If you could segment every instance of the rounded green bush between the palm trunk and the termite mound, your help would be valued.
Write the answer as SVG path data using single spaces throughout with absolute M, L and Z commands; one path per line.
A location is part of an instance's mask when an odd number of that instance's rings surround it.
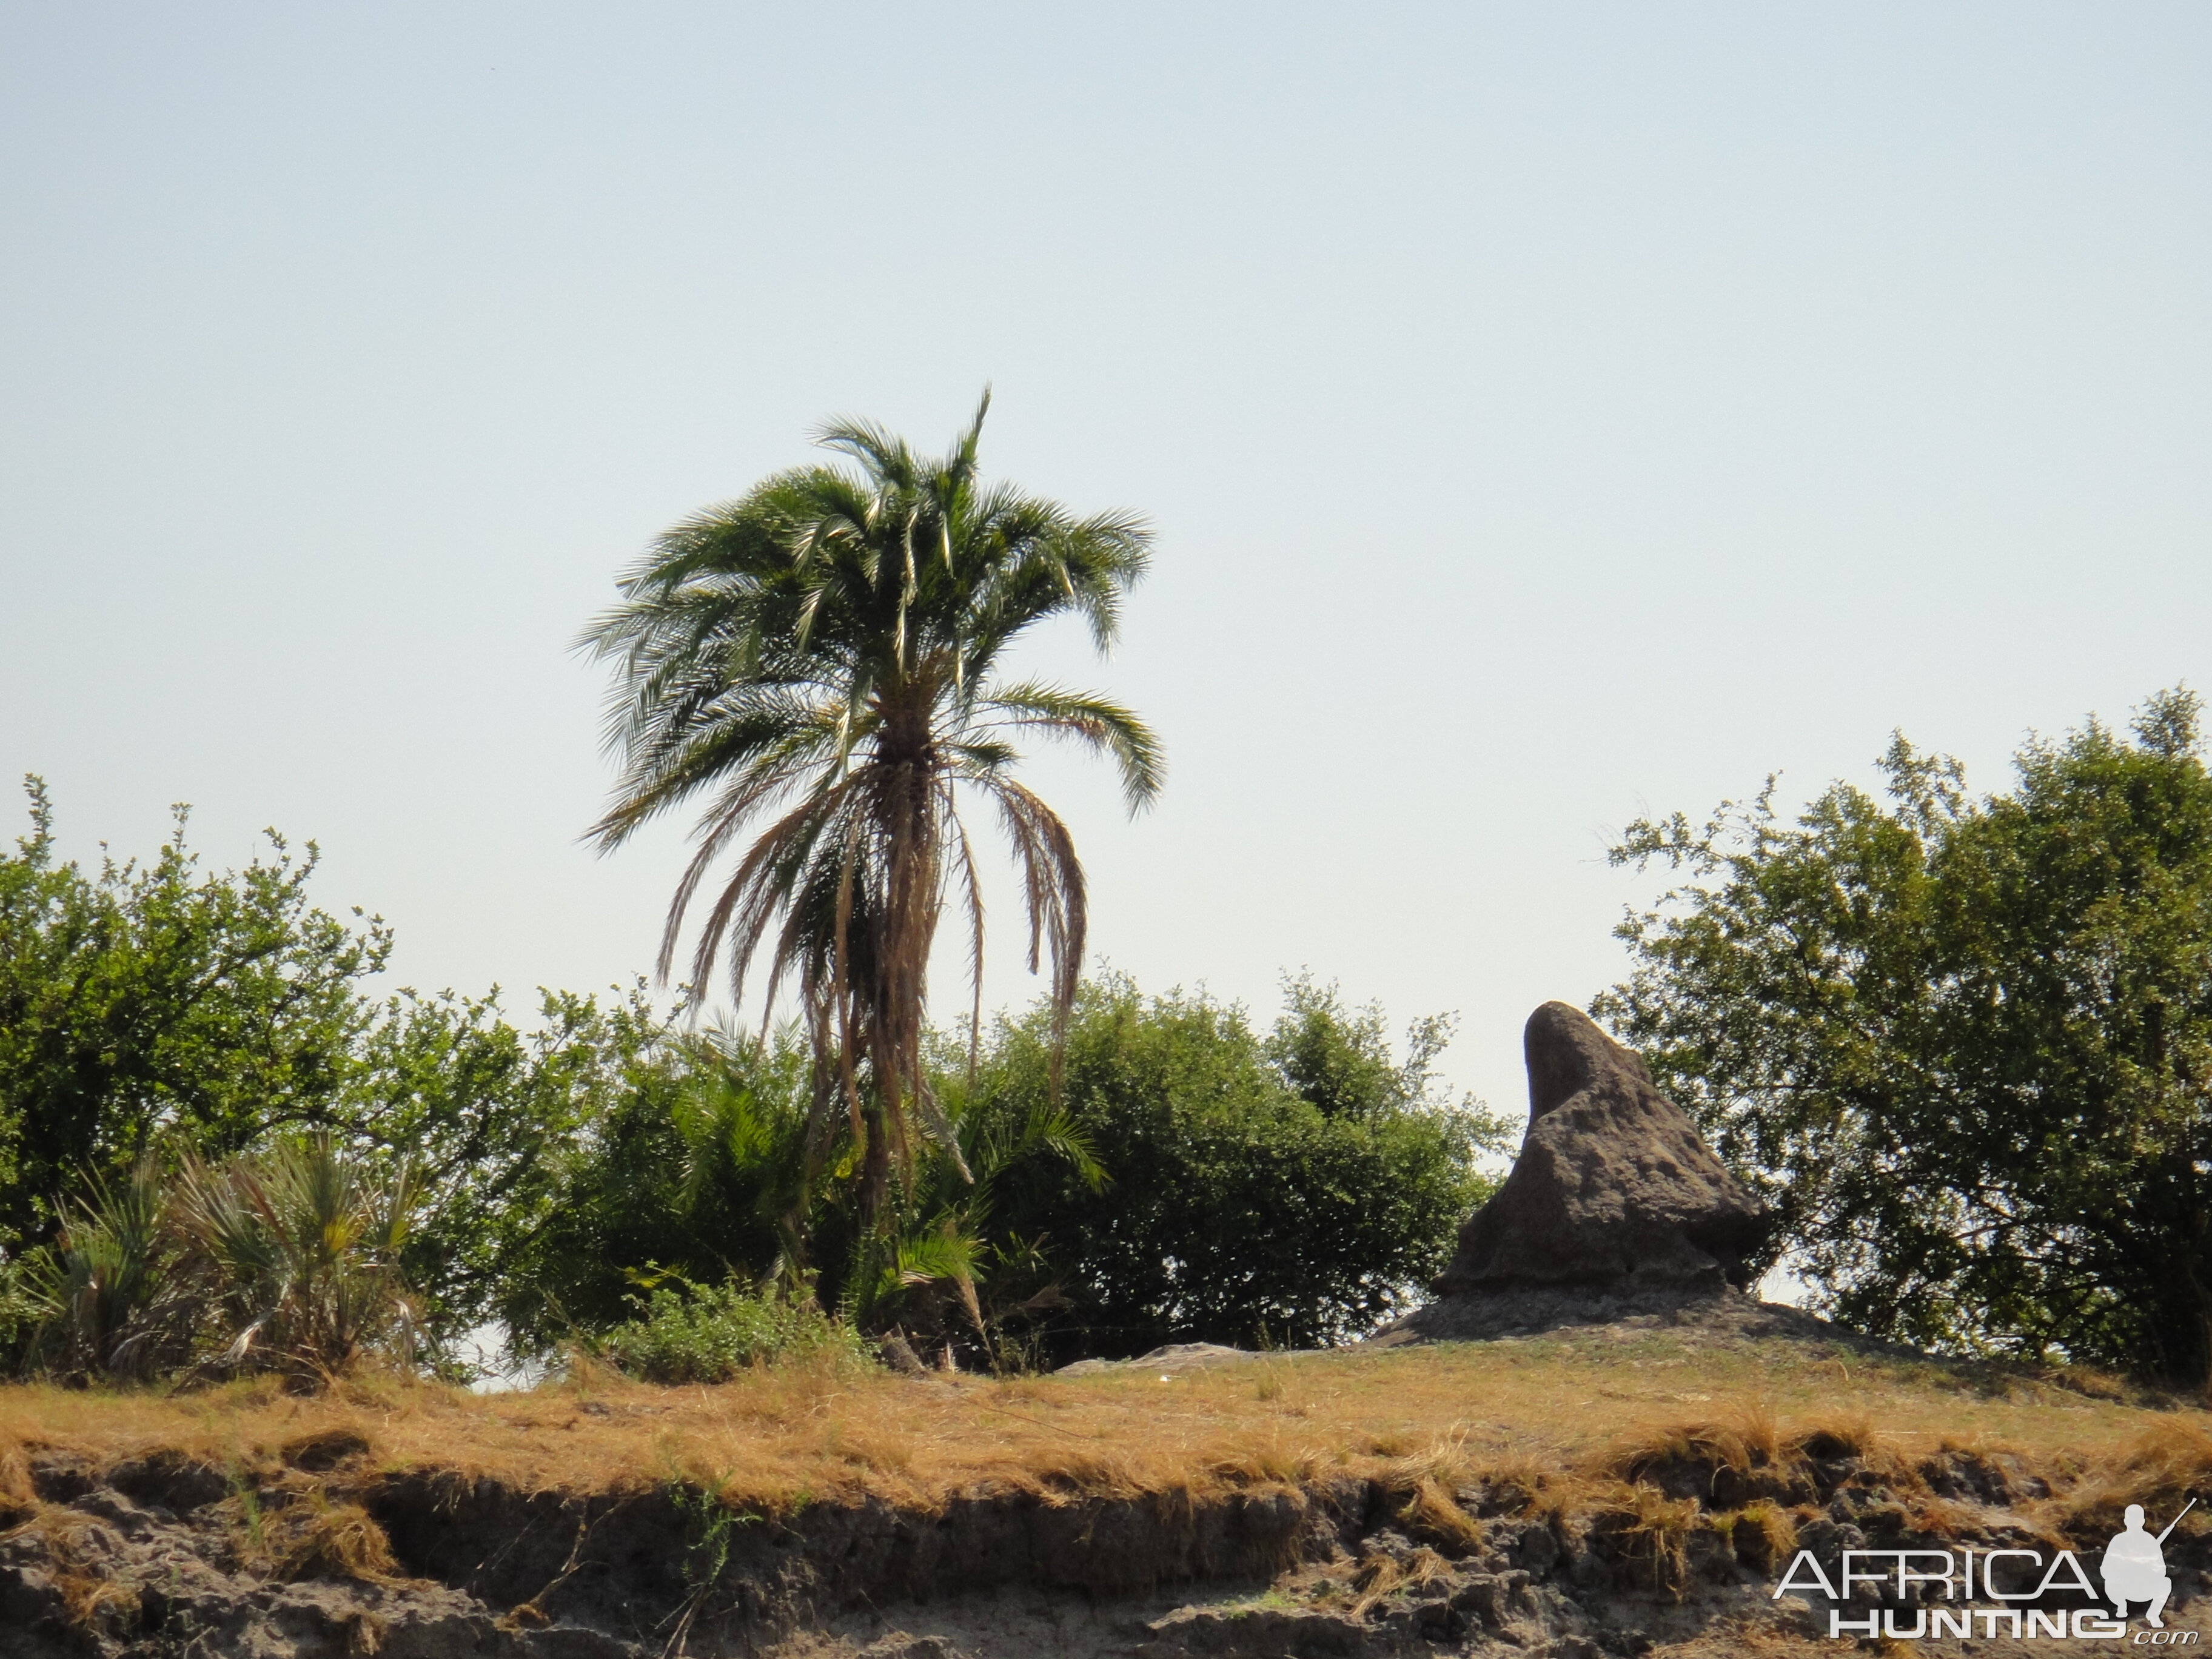
M 1383 1013 L 1296 978 L 1267 1035 L 1241 1006 L 1088 982 L 1068 1022 L 1064 1110 L 1108 1183 L 1015 1170 L 993 1225 L 1055 1265 L 1066 1305 L 1044 1354 L 1159 1343 L 1327 1347 L 1416 1307 L 1460 1221 L 1495 1190 L 1478 1168 L 1509 1126 L 1449 1095 L 1449 1018 L 1416 1020 L 1405 1055 Z M 1000 1026 L 971 1113 L 1033 1110 L 1053 1091 L 1048 1011 Z

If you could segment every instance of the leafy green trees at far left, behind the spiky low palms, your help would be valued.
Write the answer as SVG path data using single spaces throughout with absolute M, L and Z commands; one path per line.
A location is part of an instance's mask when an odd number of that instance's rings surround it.
M 55 856 L 44 785 L 29 787 L 31 834 L 0 856 L 0 1356 L 38 1323 L 9 1252 L 69 1225 L 73 1305 L 97 1323 L 150 1283 L 124 1197 L 290 1133 L 336 1135 L 385 1175 L 414 1161 L 398 1270 L 436 1352 L 491 1316 L 586 1126 L 677 1064 L 641 989 L 544 993 L 533 1031 L 498 993 L 372 998 L 392 931 L 310 900 L 312 845 L 294 856 L 272 834 L 270 858 L 208 874 L 179 810 L 153 863 L 86 872 Z

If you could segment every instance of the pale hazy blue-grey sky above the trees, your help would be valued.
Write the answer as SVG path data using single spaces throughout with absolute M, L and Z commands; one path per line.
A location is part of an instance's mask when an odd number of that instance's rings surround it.
M 577 847 L 577 626 L 989 380 L 1159 531 L 1031 653 L 1168 741 L 1135 823 L 1037 768 L 1095 956 L 1458 1009 L 1517 1110 L 1628 818 L 2212 686 L 2208 88 L 2203 4 L 7 0 L 0 774 L 319 838 L 407 982 L 628 978 L 681 834 Z

